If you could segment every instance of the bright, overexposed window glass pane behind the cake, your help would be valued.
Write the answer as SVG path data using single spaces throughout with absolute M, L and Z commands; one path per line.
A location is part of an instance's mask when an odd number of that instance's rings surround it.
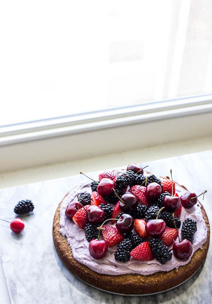
M 212 91 L 212 2 L 2 1 L 0 125 Z

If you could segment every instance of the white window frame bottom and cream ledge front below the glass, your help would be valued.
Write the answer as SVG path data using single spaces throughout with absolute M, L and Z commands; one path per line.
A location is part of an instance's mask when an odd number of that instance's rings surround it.
M 211 136 L 211 101 L 195 96 L 0 128 L 0 171 Z

